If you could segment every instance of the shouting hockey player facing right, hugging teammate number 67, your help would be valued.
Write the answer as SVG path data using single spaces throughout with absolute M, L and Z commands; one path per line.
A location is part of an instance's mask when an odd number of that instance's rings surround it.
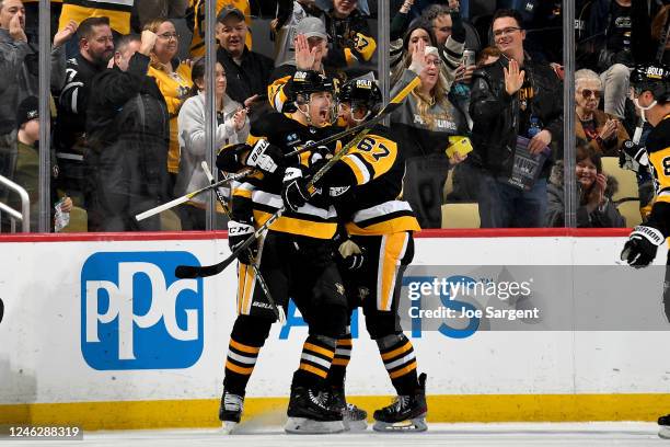
M 307 192 L 296 190 L 296 185 L 308 172 L 310 154 L 284 158 L 284 153 L 334 131 L 330 124 L 335 116 L 335 98 L 332 83 L 315 72 L 296 72 L 292 84 L 293 113 L 270 114 L 257 121 L 252 126 L 252 135 L 257 137 L 253 147 L 228 148 L 217 159 L 217 167 L 223 171 L 243 167 L 259 170 L 233 185 L 231 250 L 278 209 L 286 208 L 253 247 L 255 260 L 240 257 L 239 317 L 231 333 L 219 416 L 229 428 L 240 421 L 246 383 L 274 322 L 263 290 L 255 287 L 254 272 L 247 268 L 255 261 L 275 301 L 286 306 L 290 296 L 310 331 L 293 374 L 286 431 L 335 433 L 344 429 L 342 414 L 325 404 L 322 391 L 347 318 L 331 241 L 337 227 L 336 214 L 317 198 L 299 203 Z

